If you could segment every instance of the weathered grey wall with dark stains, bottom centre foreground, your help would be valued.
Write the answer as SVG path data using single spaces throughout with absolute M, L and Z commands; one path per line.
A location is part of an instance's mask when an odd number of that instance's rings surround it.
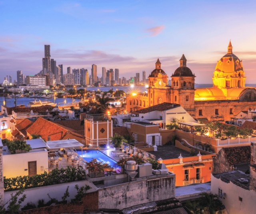
M 175 175 L 150 177 L 99 190 L 99 209 L 122 210 L 175 197 Z

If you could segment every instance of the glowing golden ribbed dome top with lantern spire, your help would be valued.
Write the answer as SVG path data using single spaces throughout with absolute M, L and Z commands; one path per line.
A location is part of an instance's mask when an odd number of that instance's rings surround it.
M 238 57 L 232 53 L 232 49 L 233 47 L 230 41 L 228 45 L 228 53 L 218 61 L 215 68 L 216 72 L 230 73 L 231 76 L 236 76 L 236 74 L 239 74 L 240 72 L 243 73 L 244 68 L 242 61 L 240 61 L 240 59 L 238 59 Z

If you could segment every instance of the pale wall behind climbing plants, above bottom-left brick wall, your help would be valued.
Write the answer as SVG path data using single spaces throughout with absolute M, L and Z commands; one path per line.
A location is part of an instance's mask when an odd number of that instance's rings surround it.
M 50 195 L 51 198 L 56 198 L 58 201 L 61 201 L 61 197 L 64 196 L 64 192 L 66 191 L 67 187 L 68 192 L 70 196 L 67 198 L 67 200 L 73 199 L 74 196 L 77 194 L 77 191 L 75 189 L 75 186 L 78 185 L 79 187 L 89 185 L 92 187 L 90 190 L 87 191 L 89 192 L 94 192 L 96 191 L 96 187 L 92 184 L 89 183 L 88 181 L 75 181 L 75 182 L 70 182 L 70 183 L 63 183 L 63 184 L 56 184 L 56 185 L 50 185 L 50 186 L 45 186 L 45 187 L 36 187 L 36 188 L 30 188 L 26 189 L 24 194 L 26 194 L 26 199 L 24 202 L 22 202 L 22 207 L 26 205 L 28 202 L 32 202 L 34 204 L 38 204 L 38 200 L 44 199 L 44 202 L 48 202 L 50 198 L 48 197 L 47 194 Z M 15 194 L 18 192 L 16 191 L 10 191 L 10 192 L 4 192 L 4 203 L 6 203 L 8 200 L 10 200 L 11 194 Z M 5 208 L 7 208 L 8 204 L 6 204 Z

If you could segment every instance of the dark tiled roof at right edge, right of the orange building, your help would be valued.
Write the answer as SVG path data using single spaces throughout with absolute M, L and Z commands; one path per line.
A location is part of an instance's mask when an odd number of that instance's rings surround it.
M 222 147 L 224 154 L 226 155 L 230 164 L 237 163 L 250 163 L 251 161 L 251 147 L 235 146 L 235 147 Z

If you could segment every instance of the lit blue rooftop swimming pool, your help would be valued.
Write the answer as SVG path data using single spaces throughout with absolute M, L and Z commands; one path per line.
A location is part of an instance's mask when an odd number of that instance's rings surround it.
M 110 166 L 114 166 L 117 163 L 112 158 L 108 157 L 108 155 L 105 155 L 98 150 L 83 150 L 83 156 L 82 150 L 77 150 L 77 154 L 83 157 L 83 159 L 87 162 L 91 161 L 93 158 L 96 158 L 97 161 L 102 161 L 102 163 L 107 163 Z

